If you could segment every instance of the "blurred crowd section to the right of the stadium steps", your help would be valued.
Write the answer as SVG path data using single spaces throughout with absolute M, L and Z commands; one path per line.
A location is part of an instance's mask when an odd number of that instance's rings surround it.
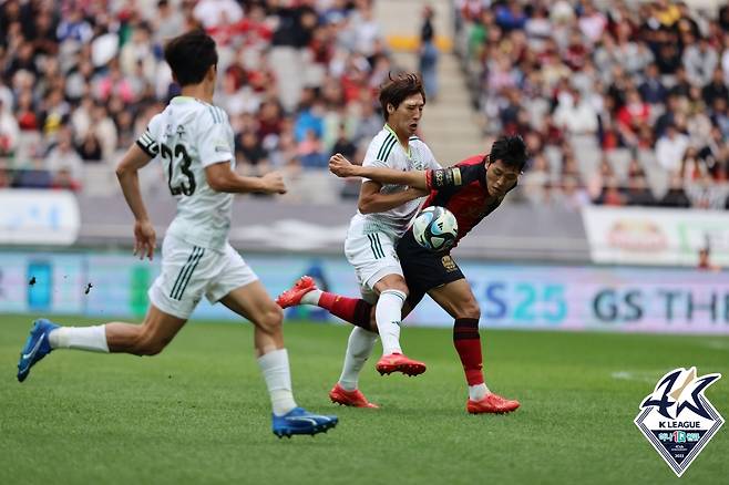
M 729 208 L 729 7 L 715 4 L 455 0 L 484 133 L 521 133 L 533 154 L 520 194 Z

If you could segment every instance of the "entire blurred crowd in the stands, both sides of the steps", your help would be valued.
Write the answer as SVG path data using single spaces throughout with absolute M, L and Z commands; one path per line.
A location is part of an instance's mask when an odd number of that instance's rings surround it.
M 516 200 L 729 207 L 727 6 L 455 0 L 453 11 L 484 147 L 516 132 L 533 154 Z M 242 173 L 324 173 L 335 152 L 361 162 L 382 126 L 378 86 L 398 70 L 373 0 L 6 0 L 0 187 L 103 193 L 176 94 L 164 40 L 198 27 L 218 43 L 215 102 Z M 421 66 L 434 62 L 432 37 L 427 20 Z

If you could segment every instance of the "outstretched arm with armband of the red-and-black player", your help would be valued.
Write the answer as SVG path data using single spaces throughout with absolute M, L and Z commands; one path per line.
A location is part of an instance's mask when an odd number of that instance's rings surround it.
M 364 177 L 379 184 L 408 185 L 419 189 L 441 189 L 469 185 L 481 174 L 463 174 L 459 167 L 401 172 L 392 168 L 355 165 L 343 155 L 329 158 L 329 171 L 338 177 Z

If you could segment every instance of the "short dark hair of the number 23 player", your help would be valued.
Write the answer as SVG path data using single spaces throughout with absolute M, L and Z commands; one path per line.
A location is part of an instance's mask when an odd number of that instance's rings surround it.
M 165 61 L 181 86 L 199 84 L 211 65 L 217 65 L 215 41 L 203 30 L 189 31 L 167 42 Z

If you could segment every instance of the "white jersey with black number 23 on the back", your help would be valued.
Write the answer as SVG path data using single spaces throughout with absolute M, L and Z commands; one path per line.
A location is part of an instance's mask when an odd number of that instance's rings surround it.
M 148 155 L 160 158 L 170 193 L 177 199 L 168 235 L 204 248 L 225 247 L 233 194 L 213 190 L 205 167 L 226 161 L 235 166 L 233 136 L 223 110 L 176 96 L 136 141 Z

